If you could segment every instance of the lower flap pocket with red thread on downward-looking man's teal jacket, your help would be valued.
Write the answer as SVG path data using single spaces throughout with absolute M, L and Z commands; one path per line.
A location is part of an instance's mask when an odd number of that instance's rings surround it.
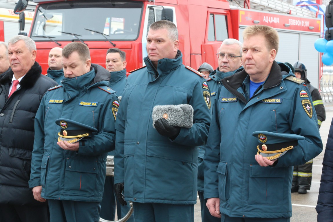
M 65 170 L 64 193 L 93 195 L 97 174 L 97 162 L 68 159 Z

